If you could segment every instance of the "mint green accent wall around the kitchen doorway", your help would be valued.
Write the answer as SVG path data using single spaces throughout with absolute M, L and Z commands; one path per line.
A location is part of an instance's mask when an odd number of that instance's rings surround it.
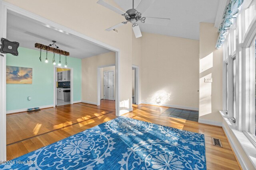
M 46 53 L 42 51 L 42 62 L 39 61 L 40 52 L 37 50 L 18 48 L 18 57 L 8 54 L 7 66 L 19 66 L 33 68 L 32 84 L 6 84 L 6 111 L 53 105 L 53 77 L 54 65 L 53 53 L 48 53 L 48 63 L 45 63 Z M 68 67 L 73 68 L 74 101 L 81 100 L 81 59 L 67 57 Z M 55 56 L 56 63 L 59 55 Z M 65 58 L 62 56 L 62 64 Z M 31 100 L 28 101 L 28 96 Z

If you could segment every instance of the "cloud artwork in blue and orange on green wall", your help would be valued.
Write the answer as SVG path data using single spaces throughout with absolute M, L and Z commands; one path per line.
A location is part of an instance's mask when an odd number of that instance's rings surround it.
M 32 68 L 6 66 L 6 84 L 32 84 Z

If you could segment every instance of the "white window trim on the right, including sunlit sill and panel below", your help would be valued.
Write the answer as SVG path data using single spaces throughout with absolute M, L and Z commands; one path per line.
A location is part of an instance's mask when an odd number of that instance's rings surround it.
M 248 158 L 256 168 L 256 137 L 251 132 L 255 130 L 255 39 L 256 39 L 256 7 L 250 8 L 250 4 L 256 4 L 256 0 L 245 0 L 242 5 L 242 10 L 236 18 L 235 34 L 230 29 L 228 37 L 224 42 L 224 59 L 223 59 L 223 110 L 226 111 L 226 64 L 228 63 L 228 115 L 221 113 L 223 122 L 228 124 L 229 129 L 223 128 L 228 139 L 232 138 L 228 135 L 233 133 Z M 248 18 L 246 18 L 246 16 Z M 247 25 L 246 25 L 247 24 Z M 234 39 L 235 38 L 235 39 Z M 235 43 L 235 51 L 234 49 Z M 234 51 L 234 53 L 232 53 Z M 232 53 L 232 54 L 230 54 Z M 234 124 L 228 118 L 232 117 L 232 76 L 233 62 L 232 57 L 236 57 L 236 123 Z M 231 91 L 231 94 L 230 94 Z M 254 129 L 254 130 L 253 130 Z M 234 148 L 236 155 L 240 157 L 239 152 Z M 240 157 L 241 165 L 246 168 L 246 162 Z

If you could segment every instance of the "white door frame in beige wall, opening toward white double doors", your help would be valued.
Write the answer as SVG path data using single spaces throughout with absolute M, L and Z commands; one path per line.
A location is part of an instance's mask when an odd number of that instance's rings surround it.
M 97 68 L 97 106 L 100 106 L 100 88 L 101 88 L 100 85 L 102 83 L 102 80 L 100 78 L 100 68 L 109 67 L 109 66 L 115 66 L 115 68 L 116 68 L 116 64 L 108 64 L 108 65 L 98 66 L 98 68 Z M 117 71 L 117 69 L 116 69 L 116 71 Z M 117 76 L 118 76 L 118 74 L 116 72 L 116 74 L 115 74 L 115 80 L 116 80 L 115 81 L 115 88 L 116 88 L 116 90 L 115 90 L 115 98 L 114 98 L 114 100 L 116 100 L 116 101 L 117 101 L 116 97 L 117 97 L 117 93 L 118 93 L 116 85 L 118 83 L 120 83 L 120 82 L 117 82 L 117 81 L 120 80 L 119 78 L 117 79 Z M 116 102 L 116 107 L 117 107 L 117 105 L 118 105 L 118 102 Z

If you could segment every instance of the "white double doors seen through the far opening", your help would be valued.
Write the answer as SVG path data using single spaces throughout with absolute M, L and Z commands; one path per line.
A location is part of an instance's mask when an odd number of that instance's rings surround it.
M 104 99 L 114 100 L 114 71 L 104 72 Z

